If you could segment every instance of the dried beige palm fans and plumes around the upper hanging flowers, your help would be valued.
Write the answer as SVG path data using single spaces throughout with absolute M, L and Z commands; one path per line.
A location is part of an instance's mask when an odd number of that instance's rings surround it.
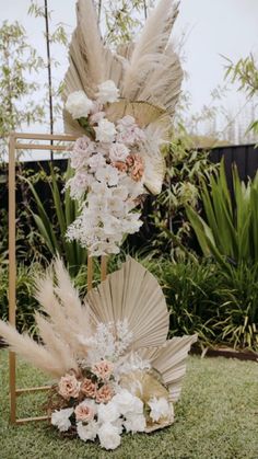
M 92 0 L 79 0 L 78 25 L 64 79 L 64 101 L 79 90 L 94 99 L 97 84 L 113 80 L 121 100 L 105 107 L 109 121 L 133 115 L 140 127 L 148 127 L 154 137 L 159 133 L 159 138 L 166 141 L 183 79 L 178 57 L 169 43 L 177 13 L 177 2 L 160 0 L 139 41 L 113 53 L 101 37 Z M 67 111 L 63 119 L 66 133 L 83 134 L 83 128 Z M 162 153 L 150 146 L 142 156 L 146 167 L 145 187 L 150 193 L 159 194 L 165 174 Z

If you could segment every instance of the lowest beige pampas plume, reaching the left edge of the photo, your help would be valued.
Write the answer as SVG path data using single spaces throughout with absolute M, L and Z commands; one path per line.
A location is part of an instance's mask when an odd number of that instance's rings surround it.
M 17 353 L 43 371 L 60 377 L 69 370 L 69 367 L 63 365 L 51 351 L 37 344 L 28 335 L 21 335 L 12 325 L 3 321 L 0 321 L 0 335 L 9 344 L 11 351 Z

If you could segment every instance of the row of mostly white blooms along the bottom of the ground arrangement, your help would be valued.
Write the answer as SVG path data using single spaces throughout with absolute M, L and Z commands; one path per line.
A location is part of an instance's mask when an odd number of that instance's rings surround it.
M 152 399 L 150 417 L 154 422 L 171 416 L 171 408 L 166 399 Z M 121 433 L 144 432 L 146 420 L 143 413 L 143 402 L 132 395 L 128 390 L 120 389 L 108 403 L 95 403 L 85 399 L 75 410 L 63 409 L 55 411 L 51 415 L 51 424 L 60 432 L 67 432 L 71 427 L 70 417 L 80 412 L 77 417 L 77 432 L 83 441 L 94 441 L 97 437 L 101 446 L 105 449 L 116 449 L 121 443 Z

